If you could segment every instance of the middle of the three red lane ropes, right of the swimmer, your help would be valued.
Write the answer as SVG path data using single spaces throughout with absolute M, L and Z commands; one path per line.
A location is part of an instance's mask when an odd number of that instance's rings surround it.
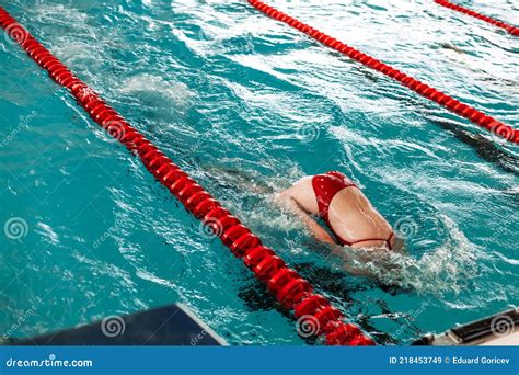
M 267 14 L 268 16 L 277 20 L 285 22 L 286 24 L 303 32 L 304 34 L 311 36 L 312 38 L 316 39 L 318 42 L 321 42 L 322 44 L 328 46 L 330 48 L 333 48 L 350 58 L 354 60 L 357 60 L 365 66 L 374 69 L 377 71 L 380 71 L 381 73 L 391 77 L 395 81 L 399 81 L 403 86 L 407 87 L 408 89 L 419 93 L 422 96 L 427 98 L 445 107 L 448 110 L 457 113 L 460 116 L 463 116 L 470 121 L 472 121 L 474 124 L 480 125 L 481 127 L 495 133 L 501 138 L 505 138 L 511 143 L 519 144 L 519 130 L 514 129 L 511 126 L 506 125 L 497 120 L 495 120 L 492 116 L 488 116 L 484 114 L 483 112 L 477 111 L 476 109 L 464 104 L 460 102 L 459 100 L 449 96 L 445 94 L 441 91 L 436 90 L 435 88 L 431 88 L 422 81 L 414 79 L 413 77 L 410 77 L 402 71 L 390 67 L 389 65 L 371 57 L 368 56 L 364 53 L 361 53 L 358 49 L 355 49 L 354 47 L 348 46 L 345 43 L 342 43 L 337 41 L 336 38 L 326 35 L 319 30 L 315 30 L 311 27 L 310 25 L 302 23 L 301 21 L 285 14 L 277 9 L 267 5 L 266 3 L 260 1 L 260 0 L 247 0 L 251 5 L 256 8 L 257 10 L 262 11 L 263 13 Z

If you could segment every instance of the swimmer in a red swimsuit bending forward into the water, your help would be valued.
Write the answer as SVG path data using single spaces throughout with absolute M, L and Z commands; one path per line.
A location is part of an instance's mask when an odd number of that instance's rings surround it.
M 305 177 L 277 193 L 275 201 L 303 221 L 320 241 L 353 249 L 400 251 L 403 240 L 360 189 L 339 172 Z M 321 217 L 330 232 L 314 217 Z

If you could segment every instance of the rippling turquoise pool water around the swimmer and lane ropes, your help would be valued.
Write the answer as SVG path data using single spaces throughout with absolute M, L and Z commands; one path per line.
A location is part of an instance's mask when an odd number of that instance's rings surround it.
M 492 25 L 431 1 L 269 3 L 519 123 L 519 44 Z M 519 23 L 511 1 L 460 3 Z M 518 304 L 517 147 L 244 1 L 0 4 L 378 342 Z M 232 344 L 307 343 L 241 261 L 3 35 L 0 124 L 4 339 L 182 302 Z M 327 170 L 408 235 L 407 255 L 390 260 L 403 272 L 348 275 L 270 204 L 269 192 Z

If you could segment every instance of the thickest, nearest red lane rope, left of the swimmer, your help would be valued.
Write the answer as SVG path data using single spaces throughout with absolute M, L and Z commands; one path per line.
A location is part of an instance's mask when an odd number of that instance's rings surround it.
M 89 115 L 131 152 L 139 156 L 154 178 L 174 194 L 185 208 L 219 237 L 235 257 L 265 283 L 279 304 L 293 311 L 297 319 L 311 325 L 312 332 L 325 338 L 330 345 L 374 345 L 360 329 L 344 322 L 338 309 L 295 270 L 262 245 L 251 230 L 223 208 L 208 192 L 151 141 L 131 127 L 117 111 L 107 105 L 86 83 L 76 77 L 50 52 L 36 41 L 3 8 L 0 24 L 25 52 L 58 83 L 66 87 Z M 300 320 L 298 320 L 299 322 Z

